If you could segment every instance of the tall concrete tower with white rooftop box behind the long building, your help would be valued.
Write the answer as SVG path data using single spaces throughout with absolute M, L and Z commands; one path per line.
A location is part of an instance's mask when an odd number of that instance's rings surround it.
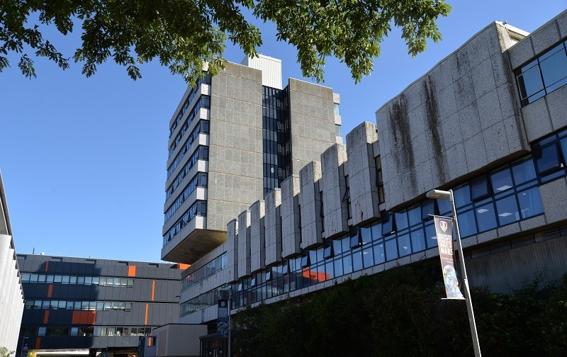
M 260 55 L 187 89 L 169 123 L 162 259 L 195 263 L 226 223 L 340 142 L 339 96 Z

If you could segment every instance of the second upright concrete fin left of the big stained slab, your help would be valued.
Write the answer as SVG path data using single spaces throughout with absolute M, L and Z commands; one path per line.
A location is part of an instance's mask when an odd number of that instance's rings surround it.
M 347 183 L 344 179 L 344 164 L 347 162 L 347 146 L 335 144 L 321 154 L 322 193 L 325 220 L 325 238 L 349 232 Z

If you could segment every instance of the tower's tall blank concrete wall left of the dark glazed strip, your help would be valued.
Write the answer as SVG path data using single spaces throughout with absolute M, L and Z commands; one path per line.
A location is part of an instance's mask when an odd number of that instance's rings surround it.
M 211 79 L 207 229 L 262 198 L 262 72 L 227 63 Z

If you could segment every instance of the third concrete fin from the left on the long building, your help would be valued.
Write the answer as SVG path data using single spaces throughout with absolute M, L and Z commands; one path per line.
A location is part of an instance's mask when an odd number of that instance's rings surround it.
M 266 268 L 266 238 L 264 216 L 266 204 L 257 200 L 250 206 L 252 222 L 250 223 L 250 271 L 256 273 Z

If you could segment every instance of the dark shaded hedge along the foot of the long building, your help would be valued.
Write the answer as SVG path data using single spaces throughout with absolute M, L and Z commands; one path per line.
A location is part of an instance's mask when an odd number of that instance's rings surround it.
M 238 356 L 472 356 L 464 302 L 434 266 L 398 267 L 311 295 L 247 307 L 233 319 Z M 564 356 L 567 274 L 510 294 L 473 289 L 485 356 Z

